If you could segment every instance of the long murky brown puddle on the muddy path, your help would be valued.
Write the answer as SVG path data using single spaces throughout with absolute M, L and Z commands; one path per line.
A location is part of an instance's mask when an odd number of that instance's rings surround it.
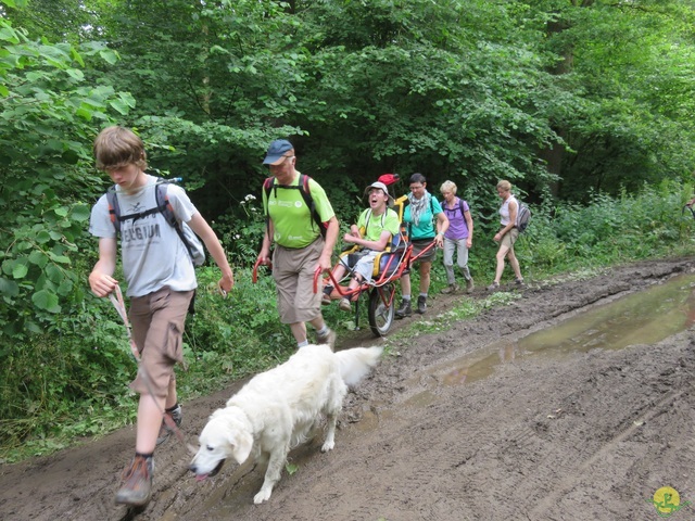
M 583 312 L 557 326 L 516 340 L 491 344 L 431 371 L 441 382 L 456 385 L 483 379 L 501 365 L 525 356 L 561 356 L 595 348 L 620 350 L 653 344 L 695 323 L 695 275 Z M 454 369 L 451 369 L 451 367 Z

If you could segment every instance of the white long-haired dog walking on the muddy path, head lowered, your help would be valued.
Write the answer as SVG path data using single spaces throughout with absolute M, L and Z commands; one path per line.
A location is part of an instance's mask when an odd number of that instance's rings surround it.
M 215 475 L 228 457 L 243 463 L 253 452 L 268 468 L 253 503 L 267 500 L 280 479 L 290 448 L 308 439 L 326 416 L 321 452 L 336 445 L 336 421 L 348 386 L 377 365 L 382 347 L 333 353 L 328 345 L 301 347 L 285 364 L 255 376 L 210 417 L 190 470 L 197 479 Z

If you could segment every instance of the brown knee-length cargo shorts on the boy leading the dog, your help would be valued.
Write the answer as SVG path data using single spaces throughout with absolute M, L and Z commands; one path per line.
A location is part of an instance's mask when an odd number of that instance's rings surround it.
M 130 383 L 134 391 L 166 397 L 169 382 L 176 380 L 174 365 L 184 359 L 184 325 L 192 296 L 192 291 L 165 287 L 130 298 L 128 316 L 140 352 L 138 376 Z

